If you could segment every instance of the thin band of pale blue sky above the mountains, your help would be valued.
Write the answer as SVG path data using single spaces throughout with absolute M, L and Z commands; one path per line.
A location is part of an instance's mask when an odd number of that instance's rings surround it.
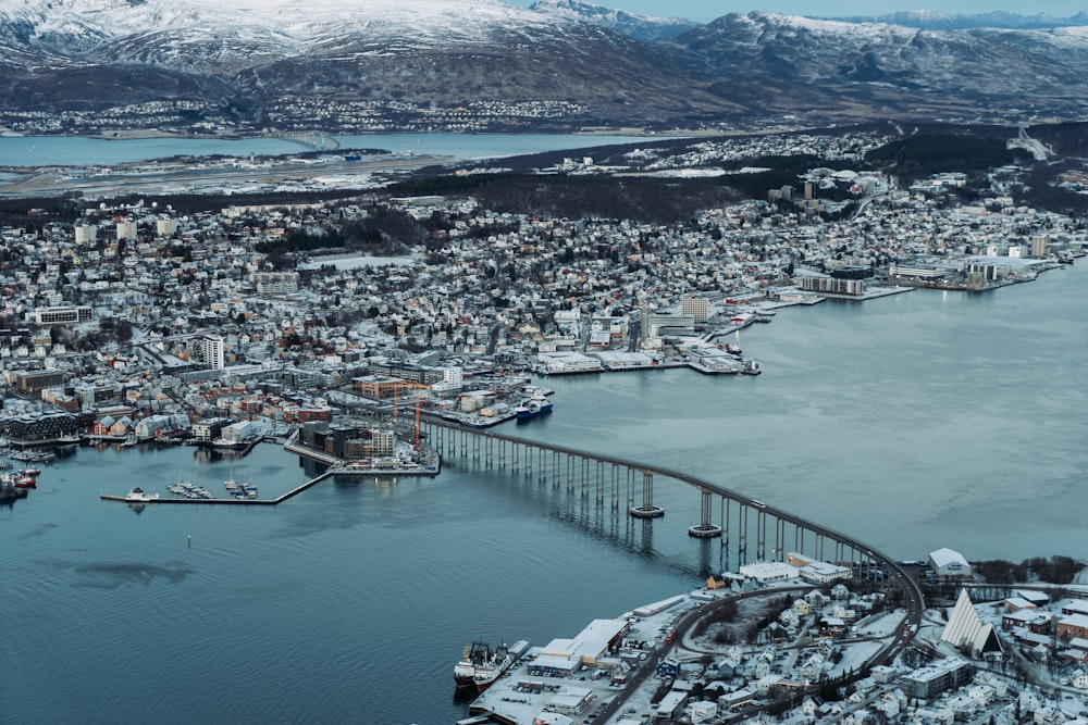
M 532 0 L 507 0 L 517 5 L 530 5 Z M 813 0 L 770 0 L 769 2 L 735 2 L 715 0 L 583 0 L 591 4 L 616 8 L 644 15 L 663 15 L 666 17 L 688 17 L 706 23 L 728 13 L 746 13 L 753 10 L 783 13 L 786 15 L 807 15 L 809 17 L 848 17 L 854 15 L 883 15 L 900 10 L 938 10 L 949 14 L 973 15 L 1002 11 L 1021 15 L 1046 13 L 1055 17 L 1068 17 L 1081 11 L 1088 11 L 1088 0 L 1042 0 L 1025 3 L 1023 0 L 941 0 L 929 4 L 913 4 L 911 0 L 876 0 L 876 2 L 845 2 L 830 0 L 813 2 Z

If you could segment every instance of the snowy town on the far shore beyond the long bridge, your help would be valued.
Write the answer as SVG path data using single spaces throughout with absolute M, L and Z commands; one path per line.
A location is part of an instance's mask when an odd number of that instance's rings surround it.
M 21 449 L 272 437 L 344 465 L 418 468 L 418 415 L 489 426 L 561 414 L 533 376 L 766 373 L 738 333 L 782 307 L 918 287 L 986 293 L 1085 254 L 1081 220 L 1014 203 L 1016 166 L 908 188 L 851 171 L 889 138 L 705 139 L 626 150 L 632 165 L 619 171 L 585 157 L 533 172 L 676 179 L 801 153 L 827 164 L 762 199 L 716 192 L 727 203 L 672 223 L 373 190 L 30 209 L 0 227 L 0 434 Z M 1055 184 L 1075 183 L 1066 176 Z

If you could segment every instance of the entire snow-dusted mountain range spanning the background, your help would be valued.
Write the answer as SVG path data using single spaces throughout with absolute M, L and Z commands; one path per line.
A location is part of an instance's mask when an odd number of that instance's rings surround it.
M 635 28 L 671 21 L 577 0 L 534 8 L 5 0 L 0 113 L 194 101 L 203 109 L 191 111 L 194 123 L 210 114 L 298 128 L 325 123 L 331 107 L 362 124 L 372 104 L 395 124 L 390 109 L 399 103 L 417 120 L 470 105 L 492 104 L 497 115 L 518 107 L 524 127 L 541 114 L 552 127 L 578 127 L 1088 112 L 1088 26 L 930 30 L 749 13 L 650 42 L 631 37 Z

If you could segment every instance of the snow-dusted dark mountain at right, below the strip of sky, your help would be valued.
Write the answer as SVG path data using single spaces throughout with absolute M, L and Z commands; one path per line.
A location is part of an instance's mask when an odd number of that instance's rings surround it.
M 673 43 L 692 70 L 713 77 L 879 84 L 1024 105 L 1072 97 L 1088 67 L 1083 26 L 939 32 L 754 12 L 719 17 Z

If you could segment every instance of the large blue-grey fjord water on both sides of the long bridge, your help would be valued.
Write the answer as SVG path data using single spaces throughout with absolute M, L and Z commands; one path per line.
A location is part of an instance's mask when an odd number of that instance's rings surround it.
M 920 290 L 778 313 L 741 334 L 759 377 L 553 377 L 504 432 L 685 468 L 897 558 L 1077 558 L 1088 510 L 1088 264 L 985 295 Z M 187 478 L 262 496 L 297 459 L 81 448 L 0 509 L 0 722 L 450 723 L 472 639 L 544 643 L 725 564 L 695 492 L 664 518 L 449 461 L 435 479 L 325 482 L 274 509 L 100 490 Z

